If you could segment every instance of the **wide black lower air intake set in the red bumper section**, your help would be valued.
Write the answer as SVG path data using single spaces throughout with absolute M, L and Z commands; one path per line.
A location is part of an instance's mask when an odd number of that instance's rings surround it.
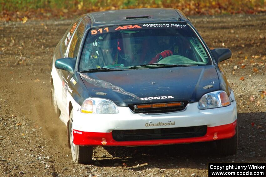
M 156 128 L 140 130 L 113 130 L 115 141 L 193 138 L 206 135 L 207 126 Z

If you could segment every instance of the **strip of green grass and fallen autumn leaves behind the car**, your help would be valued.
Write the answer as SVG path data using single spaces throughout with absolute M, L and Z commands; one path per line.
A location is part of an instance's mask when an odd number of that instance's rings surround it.
M 0 19 L 68 18 L 93 11 L 162 7 L 187 15 L 262 13 L 266 0 L 0 0 Z

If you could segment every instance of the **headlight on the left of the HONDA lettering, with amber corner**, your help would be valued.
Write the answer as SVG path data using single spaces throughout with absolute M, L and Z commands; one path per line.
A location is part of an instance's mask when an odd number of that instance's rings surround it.
M 117 106 L 114 102 L 102 98 L 87 98 L 80 109 L 82 113 L 116 114 Z

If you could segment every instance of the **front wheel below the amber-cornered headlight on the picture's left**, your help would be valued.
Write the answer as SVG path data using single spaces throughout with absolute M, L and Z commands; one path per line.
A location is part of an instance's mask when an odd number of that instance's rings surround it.
M 72 159 L 76 164 L 89 164 L 92 160 L 93 147 L 92 146 L 78 146 L 73 143 L 73 109 L 70 112 L 69 120 L 69 139 Z

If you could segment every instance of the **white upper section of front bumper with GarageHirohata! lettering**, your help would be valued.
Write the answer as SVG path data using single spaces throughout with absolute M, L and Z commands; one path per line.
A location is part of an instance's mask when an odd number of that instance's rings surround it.
M 85 114 L 74 111 L 73 129 L 84 132 L 109 133 L 112 130 L 136 130 L 150 128 L 176 128 L 207 125 L 215 127 L 237 119 L 236 102 L 227 107 L 199 110 L 198 103 L 187 104 L 183 111 L 165 114 L 136 114 L 129 107 L 118 107 L 118 114 Z M 146 126 L 159 122 L 175 122 L 167 126 Z

